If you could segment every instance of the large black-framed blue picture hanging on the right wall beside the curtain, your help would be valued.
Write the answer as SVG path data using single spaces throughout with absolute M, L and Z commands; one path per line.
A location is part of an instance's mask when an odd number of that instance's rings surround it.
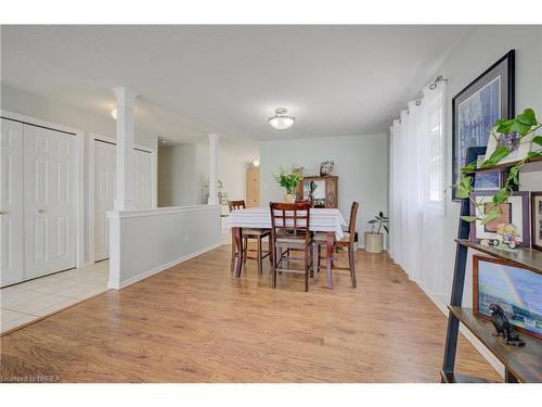
M 496 119 L 514 117 L 514 55 L 506 53 L 452 99 L 452 183 L 468 164 L 467 149 L 487 147 Z M 452 199 L 460 201 L 455 189 Z

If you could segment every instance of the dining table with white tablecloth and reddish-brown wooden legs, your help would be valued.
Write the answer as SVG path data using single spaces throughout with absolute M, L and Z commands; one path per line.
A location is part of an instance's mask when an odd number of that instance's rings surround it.
M 287 222 L 286 226 L 288 226 Z M 231 229 L 233 242 L 236 246 L 235 278 L 240 278 L 243 269 L 243 228 L 271 229 L 270 208 L 250 207 L 234 209 L 225 220 L 225 227 Z M 333 289 L 332 264 L 335 241 L 343 239 L 345 236 L 345 227 L 347 227 L 347 222 L 339 209 L 323 207 L 310 209 L 309 230 L 313 232 L 325 232 L 327 234 L 325 257 L 328 289 Z

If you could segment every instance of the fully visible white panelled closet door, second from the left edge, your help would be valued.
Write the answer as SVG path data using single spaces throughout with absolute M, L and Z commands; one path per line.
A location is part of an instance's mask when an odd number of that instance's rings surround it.
M 25 280 L 75 267 L 75 139 L 24 125 Z

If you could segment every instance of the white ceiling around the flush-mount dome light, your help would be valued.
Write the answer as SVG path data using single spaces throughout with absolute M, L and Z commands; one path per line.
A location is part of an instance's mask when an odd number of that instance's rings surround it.
M 387 131 L 465 26 L 2 26 L 2 82 L 108 115 L 138 91 L 137 119 L 182 141 Z M 297 117 L 271 129 L 278 106 Z

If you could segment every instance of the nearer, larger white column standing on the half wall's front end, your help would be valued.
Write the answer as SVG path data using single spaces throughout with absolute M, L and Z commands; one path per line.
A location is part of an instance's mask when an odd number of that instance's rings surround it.
M 125 87 L 113 88 L 112 90 L 117 98 L 117 182 L 115 191 L 115 209 L 133 209 L 136 208 L 133 186 L 133 106 L 138 93 Z

